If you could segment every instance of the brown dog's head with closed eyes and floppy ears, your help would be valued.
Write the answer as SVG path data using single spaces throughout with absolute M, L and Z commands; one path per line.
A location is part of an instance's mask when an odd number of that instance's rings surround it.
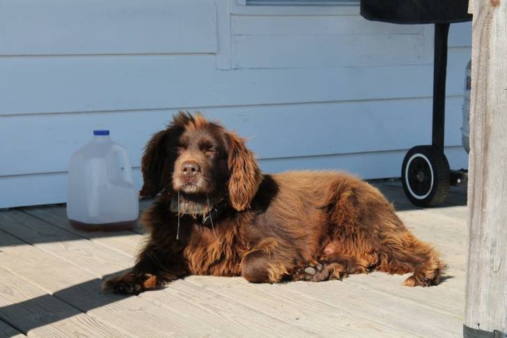
M 244 139 L 199 113 L 173 116 L 166 130 L 148 141 L 141 165 L 142 197 L 161 191 L 207 194 L 228 197 L 236 210 L 249 207 L 262 180 Z

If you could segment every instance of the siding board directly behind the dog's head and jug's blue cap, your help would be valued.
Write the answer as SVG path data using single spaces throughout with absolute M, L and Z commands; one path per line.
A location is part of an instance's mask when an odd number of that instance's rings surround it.
M 449 98 L 446 144 L 461 142 L 462 100 Z M 196 107 L 249 139 L 261 159 L 297 158 L 407 149 L 431 139 L 431 99 L 368 100 L 298 105 Z M 111 137 L 139 166 L 142 148 L 177 110 L 5 116 L 1 134 L 15 147 L 1 147 L 0 176 L 66 171 L 70 155 L 94 129 Z M 20 127 L 22 129 L 20 129 Z M 29 159 L 29 160 L 28 160 Z

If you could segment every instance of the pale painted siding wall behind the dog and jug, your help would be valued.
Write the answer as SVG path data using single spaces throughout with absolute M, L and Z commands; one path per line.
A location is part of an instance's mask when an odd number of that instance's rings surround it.
M 65 201 L 70 154 L 95 128 L 127 147 L 140 186 L 142 148 L 178 109 L 249 137 L 266 171 L 399 176 L 430 143 L 432 40 L 358 6 L 1 1 L 0 208 Z M 461 168 L 470 24 L 449 43 L 446 154 Z

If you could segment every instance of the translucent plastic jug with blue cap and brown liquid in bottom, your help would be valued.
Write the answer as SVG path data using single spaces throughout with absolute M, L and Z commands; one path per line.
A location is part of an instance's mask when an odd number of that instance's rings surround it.
M 111 140 L 109 130 L 94 130 L 93 139 L 72 154 L 67 217 L 84 231 L 132 229 L 137 222 L 139 197 L 127 151 Z

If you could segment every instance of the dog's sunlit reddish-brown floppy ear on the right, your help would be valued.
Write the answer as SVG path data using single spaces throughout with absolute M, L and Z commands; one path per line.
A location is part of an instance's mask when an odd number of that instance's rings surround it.
M 226 132 L 229 146 L 228 168 L 231 172 L 228 190 L 233 208 L 238 211 L 250 206 L 263 175 L 260 174 L 255 155 L 244 144 L 244 139 Z

